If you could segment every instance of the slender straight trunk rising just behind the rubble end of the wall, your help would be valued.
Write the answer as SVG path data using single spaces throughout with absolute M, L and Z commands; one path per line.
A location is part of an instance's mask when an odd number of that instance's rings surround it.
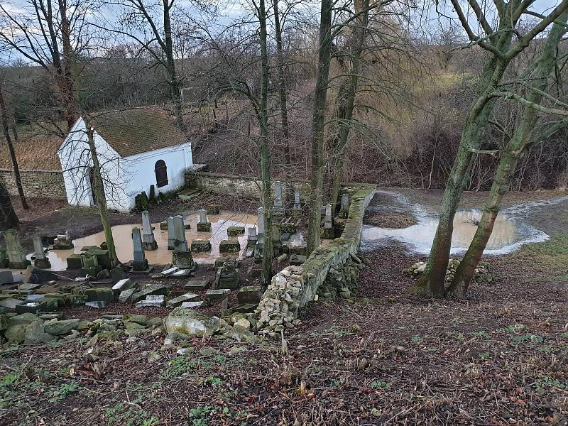
M 259 0 L 258 23 L 261 35 L 261 102 L 259 108 L 259 121 L 261 126 L 261 179 L 263 182 L 263 209 L 264 209 L 264 248 L 262 257 L 261 280 L 264 286 L 271 283 L 272 278 L 272 185 L 271 185 L 271 152 L 268 146 L 268 35 L 266 31 L 266 5 Z

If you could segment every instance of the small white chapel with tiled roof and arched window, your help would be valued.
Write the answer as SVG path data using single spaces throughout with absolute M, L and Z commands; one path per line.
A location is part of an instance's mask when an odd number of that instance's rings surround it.
M 67 202 L 95 204 L 92 158 L 85 119 L 94 129 L 94 144 L 101 164 L 109 209 L 128 211 L 136 195 L 177 190 L 192 167 L 191 143 L 159 107 L 105 111 L 80 117 L 58 150 Z

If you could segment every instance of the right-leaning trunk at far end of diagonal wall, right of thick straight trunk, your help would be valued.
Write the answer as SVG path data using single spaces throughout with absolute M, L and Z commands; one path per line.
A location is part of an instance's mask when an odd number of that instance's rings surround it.
M 335 157 L 332 161 L 332 185 L 331 194 L 329 195 L 329 204 L 332 208 L 337 208 L 339 200 L 339 185 L 342 181 L 342 169 L 345 158 L 345 148 L 349 141 L 349 132 L 351 131 L 351 119 L 353 119 L 353 110 L 355 106 L 355 96 L 357 85 L 359 84 L 359 69 L 361 68 L 361 55 L 365 43 L 366 28 L 368 25 L 369 0 L 355 2 L 355 13 L 359 15 L 357 18 L 357 26 L 353 32 L 353 48 L 351 49 L 351 77 L 344 81 L 339 89 L 339 107 L 337 119 L 339 120 L 339 129 L 337 131 L 339 138 L 335 144 Z

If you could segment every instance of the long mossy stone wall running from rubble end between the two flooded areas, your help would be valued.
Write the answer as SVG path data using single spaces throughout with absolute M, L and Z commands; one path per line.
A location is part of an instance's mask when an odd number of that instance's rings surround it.
M 297 324 L 297 310 L 315 300 L 330 269 L 333 276 L 328 280 L 328 287 L 337 288 L 337 282 L 344 280 L 346 288 L 352 288 L 354 275 L 359 272 L 361 263 L 356 253 L 361 242 L 363 216 L 375 190 L 375 185 L 359 185 L 359 190 L 351 195 L 342 235 L 328 246 L 315 249 L 301 268 L 288 266 L 272 278 L 256 310 L 261 333 L 276 336 L 286 327 Z

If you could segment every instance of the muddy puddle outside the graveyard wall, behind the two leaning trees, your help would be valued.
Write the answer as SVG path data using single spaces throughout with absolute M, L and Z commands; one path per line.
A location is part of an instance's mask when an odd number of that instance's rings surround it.
M 418 223 L 403 229 L 381 228 L 364 225 L 361 246 L 364 250 L 371 250 L 378 245 L 384 245 L 388 240 L 399 241 L 405 244 L 411 251 L 416 253 L 430 253 L 432 241 L 438 226 L 438 217 L 430 212 L 425 212 L 419 204 L 410 204 L 408 200 L 401 199 L 395 193 L 381 192 L 381 196 L 392 195 L 398 206 L 393 209 L 405 208 L 406 212 L 412 212 Z M 499 214 L 493 233 L 488 241 L 486 254 L 504 254 L 519 249 L 523 244 L 546 241 L 549 237 L 544 232 L 525 224 L 507 209 Z M 452 253 L 466 251 L 474 238 L 477 224 L 481 219 L 481 210 L 469 209 L 457 212 L 454 218 L 454 234 L 452 237 Z

